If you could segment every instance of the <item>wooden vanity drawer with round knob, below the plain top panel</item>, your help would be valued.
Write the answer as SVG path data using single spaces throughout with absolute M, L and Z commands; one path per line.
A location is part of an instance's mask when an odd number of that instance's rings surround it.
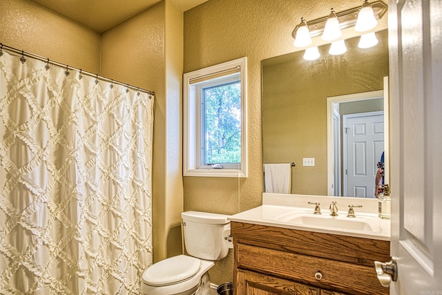
M 348 294 L 389 294 L 374 267 L 236 244 L 236 267 Z M 320 272 L 322 278 L 315 278 Z

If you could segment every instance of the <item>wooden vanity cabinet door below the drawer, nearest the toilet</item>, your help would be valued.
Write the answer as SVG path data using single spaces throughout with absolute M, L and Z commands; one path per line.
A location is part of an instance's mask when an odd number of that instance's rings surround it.
M 320 289 L 238 269 L 236 295 L 320 295 Z

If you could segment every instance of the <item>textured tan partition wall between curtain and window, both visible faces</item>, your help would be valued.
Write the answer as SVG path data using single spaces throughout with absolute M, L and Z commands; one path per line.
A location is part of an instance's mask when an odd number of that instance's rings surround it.
M 102 73 L 155 91 L 153 259 L 182 253 L 182 26 L 169 0 L 102 34 Z

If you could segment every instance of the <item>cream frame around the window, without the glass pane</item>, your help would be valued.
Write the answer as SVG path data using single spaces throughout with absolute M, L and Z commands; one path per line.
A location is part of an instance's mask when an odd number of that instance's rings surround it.
M 198 84 L 214 77 L 239 73 L 241 93 L 241 162 L 222 169 L 200 163 L 202 114 L 198 104 Z M 223 75 L 224 74 L 224 75 Z M 221 81 L 223 79 L 220 79 Z M 200 131 L 200 132 L 199 132 Z M 183 76 L 183 175 L 200 177 L 247 178 L 247 57 L 185 73 Z M 238 166 L 238 168 L 233 168 Z

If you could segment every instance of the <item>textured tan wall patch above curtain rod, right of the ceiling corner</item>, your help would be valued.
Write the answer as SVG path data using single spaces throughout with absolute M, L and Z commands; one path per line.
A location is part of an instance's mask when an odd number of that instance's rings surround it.
M 164 2 L 102 33 L 102 75 L 164 97 Z

